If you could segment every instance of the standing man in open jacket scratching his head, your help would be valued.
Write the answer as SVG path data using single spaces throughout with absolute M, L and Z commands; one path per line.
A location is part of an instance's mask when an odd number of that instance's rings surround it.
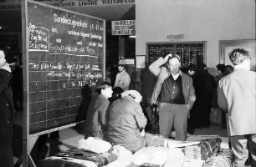
M 182 73 L 178 55 L 166 55 L 150 65 L 156 77 L 151 104 L 159 106 L 159 133 L 169 138 L 174 126 L 177 140 L 187 140 L 187 119 L 196 99 L 192 78 Z

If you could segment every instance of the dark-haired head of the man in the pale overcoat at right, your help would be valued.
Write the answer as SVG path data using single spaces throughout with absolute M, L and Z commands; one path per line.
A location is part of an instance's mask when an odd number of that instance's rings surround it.
M 244 48 L 235 48 L 231 53 L 229 53 L 229 59 L 233 65 L 239 65 L 243 63 L 243 60 L 246 58 L 250 58 L 250 55 Z

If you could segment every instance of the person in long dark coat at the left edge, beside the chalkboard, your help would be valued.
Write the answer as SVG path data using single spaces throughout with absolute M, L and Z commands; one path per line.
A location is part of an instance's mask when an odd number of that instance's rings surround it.
M 11 68 L 0 50 L 0 166 L 13 167 L 14 104 L 10 86 Z

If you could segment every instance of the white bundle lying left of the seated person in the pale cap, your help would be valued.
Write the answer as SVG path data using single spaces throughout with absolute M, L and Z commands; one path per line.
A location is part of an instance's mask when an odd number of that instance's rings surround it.
M 89 137 L 80 139 L 78 149 L 86 149 L 95 153 L 106 153 L 111 149 L 112 145 L 100 138 Z

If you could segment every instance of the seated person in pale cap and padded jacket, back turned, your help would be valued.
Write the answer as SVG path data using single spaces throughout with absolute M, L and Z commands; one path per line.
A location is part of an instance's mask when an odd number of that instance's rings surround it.
M 146 117 L 141 109 L 142 96 L 136 90 L 128 90 L 116 99 L 107 111 L 106 139 L 136 151 L 145 145 L 141 132 L 146 126 Z

